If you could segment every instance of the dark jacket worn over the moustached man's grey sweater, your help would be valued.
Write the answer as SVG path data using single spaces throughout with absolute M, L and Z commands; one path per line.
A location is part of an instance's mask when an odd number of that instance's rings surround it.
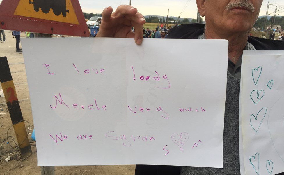
M 204 33 L 205 24 L 182 24 L 179 27 L 171 28 L 168 32 L 168 38 L 174 39 L 198 39 L 199 35 Z M 248 36 L 248 42 L 256 50 L 284 50 L 284 41 L 269 40 Z M 163 165 L 136 165 L 135 175 L 179 175 L 179 166 Z M 284 175 L 280 173 L 279 175 Z

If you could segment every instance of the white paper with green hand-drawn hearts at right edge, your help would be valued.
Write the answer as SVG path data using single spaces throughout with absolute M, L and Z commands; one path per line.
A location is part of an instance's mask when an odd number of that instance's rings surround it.
M 245 50 L 240 91 L 242 175 L 284 172 L 284 51 Z

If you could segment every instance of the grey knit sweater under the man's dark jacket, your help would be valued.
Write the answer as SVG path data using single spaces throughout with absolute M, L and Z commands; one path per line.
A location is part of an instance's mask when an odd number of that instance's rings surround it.
M 204 34 L 199 39 L 205 39 Z M 247 50 L 255 48 L 247 43 Z M 223 168 L 181 167 L 181 175 L 240 175 L 239 165 L 240 78 L 228 72 L 223 135 Z

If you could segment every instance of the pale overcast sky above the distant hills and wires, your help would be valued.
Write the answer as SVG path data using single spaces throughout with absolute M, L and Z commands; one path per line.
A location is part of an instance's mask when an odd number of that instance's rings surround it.
M 1 1 L 1 0 L 0 0 Z M 108 6 L 111 6 L 114 10 L 120 4 L 129 4 L 129 0 L 79 0 L 83 12 L 87 13 L 102 13 L 102 10 Z M 143 15 L 161 15 L 167 16 L 169 8 L 169 16 L 178 17 L 182 12 L 187 0 L 132 0 L 131 5 L 138 9 Z M 267 8 L 267 0 L 263 0 L 260 16 L 265 15 Z M 270 1 L 271 4 L 284 6 L 284 0 Z M 269 6 L 269 12 L 272 13 L 275 10 L 275 6 Z M 181 17 L 184 18 L 196 18 L 197 6 L 195 0 L 190 0 L 188 6 L 185 8 Z M 271 15 L 274 15 L 271 14 Z M 284 10 L 277 12 L 276 15 L 284 16 Z

